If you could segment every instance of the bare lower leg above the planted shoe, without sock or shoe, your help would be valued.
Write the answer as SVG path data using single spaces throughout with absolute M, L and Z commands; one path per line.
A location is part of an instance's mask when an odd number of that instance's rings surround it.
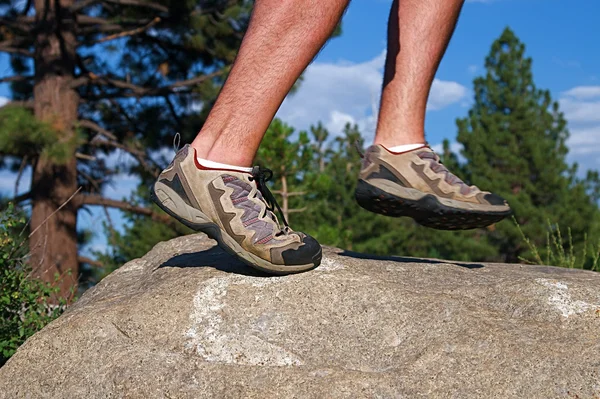
M 283 99 L 349 0 L 257 0 L 237 59 L 192 143 L 199 157 L 250 166 Z

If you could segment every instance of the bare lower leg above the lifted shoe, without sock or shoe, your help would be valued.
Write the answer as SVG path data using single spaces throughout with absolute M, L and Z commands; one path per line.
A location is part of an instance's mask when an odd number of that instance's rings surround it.
M 394 0 L 375 144 L 425 142 L 427 97 L 462 5 L 463 0 Z

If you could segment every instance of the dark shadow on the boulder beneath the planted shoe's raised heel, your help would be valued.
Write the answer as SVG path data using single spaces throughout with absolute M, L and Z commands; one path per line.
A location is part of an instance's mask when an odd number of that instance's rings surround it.
M 158 268 L 162 267 L 212 267 L 223 272 L 242 274 L 244 276 L 273 277 L 259 270 L 252 269 L 216 245 L 204 251 L 176 255 L 161 264 Z

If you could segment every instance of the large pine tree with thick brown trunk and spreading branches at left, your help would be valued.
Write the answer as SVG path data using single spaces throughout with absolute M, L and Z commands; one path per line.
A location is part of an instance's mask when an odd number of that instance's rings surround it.
M 33 170 L 31 266 L 61 292 L 79 275 L 77 213 L 115 207 L 168 222 L 146 206 L 104 198 L 119 172 L 144 182 L 151 154 L 177 131 L 197 133 L 249 18 L 246 0 L 4 0 L 0 52 L 13 100 L 0 112 L 0 154 Z M 131 164 L 109 165 L 108 154 Z M 5 156 L 10 157 L 5 157 Z

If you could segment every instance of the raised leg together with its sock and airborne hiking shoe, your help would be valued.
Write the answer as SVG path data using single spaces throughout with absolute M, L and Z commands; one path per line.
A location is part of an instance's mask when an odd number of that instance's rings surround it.
M 425 108 L 463 0 L 395 0 L 375 144 L 365 153 L 356 199 L 365 209 L 409 216 L 442 230 L 484 227 L 511 214 L 503 198 L 465 184 L 425 144 Z

